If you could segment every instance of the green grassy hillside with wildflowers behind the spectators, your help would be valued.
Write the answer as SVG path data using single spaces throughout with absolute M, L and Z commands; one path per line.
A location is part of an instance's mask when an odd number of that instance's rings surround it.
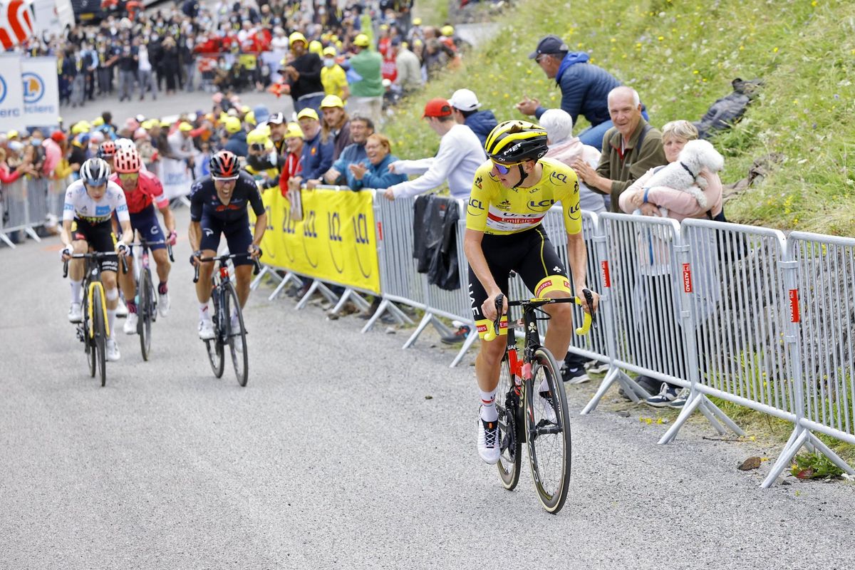
M 422 106 L 460 87 L 474 90 L 499 120 L 521 116 L 514 103 L 524 94 L 557 107 L 557 86 L 527 59 L 541 36 L 556 33 L 634 86 L 655 126 L 698 120 L 736 77 L 764 79 L 746 118 L 714 141 L 726 158 L 722 180 L 743 178 L 770 152 L 783 162 L 763 185 L 728 203 L 728 218 L 855 235 L 855 3 L 522 0 L 500 22 L 498 37 L 469 54 L 462 69 L 399 109 L 386 129 L 395 154 L 436 149 Z

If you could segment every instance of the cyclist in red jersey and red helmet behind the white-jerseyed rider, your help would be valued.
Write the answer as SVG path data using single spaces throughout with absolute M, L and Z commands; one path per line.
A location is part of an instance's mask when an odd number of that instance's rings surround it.
M 120 185 L 125 191 L 131 227 L 150 244 L 151 256 L 155 258 L 157 277 L 160 279 L 160 284 L 157 285 L 157 312 L 165 317 L 169 314 L 167 279 L 171 267 L 165 242 L 174 245 L 178 234 L 175 233 L 175 219 L 172 210 L 169 209 L 169 200 L 163 193 L 161 181 L 153 173 L 142 171 L 142 166 L 143 161 L 136 148 L 117 150 L 113 159 L 115 172 L 110 176 L 110 181 Z M 156 209 L 160 210 L 163 216 L 163 225 L 166 226 L 168 237 L 164 237 L 163 230 L 157 222 Z M 132 263 L 133 260 L 129 259 L 128 272 L 119 273 L 119 285 L 127 305 L 125 334 L 137 333 L 137 303 L 134 301 L 137 292 L 133 281 Z

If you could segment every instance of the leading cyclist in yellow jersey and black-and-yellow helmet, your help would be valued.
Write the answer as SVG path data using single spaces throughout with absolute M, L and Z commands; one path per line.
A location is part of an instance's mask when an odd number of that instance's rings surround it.
M 505 121 L 487 136 L 484 150 L 490 160 L 475 172 L 463 250 L 469 260 L 472 313 L 481 337 L 481 350 L 475 359 L 481 391 L 478 455 L 487 463 L 496 463 L 500 455 L 496 387 L 506 346 L 507 318 L 502 319 L 497 338 L 484 338 L 487 326 L 497 316 L 496 297 L 500 293 L 507 297 L 510 271 L 518 273 L 536 297 L 571 297 L 567 271 L 541 226 L 546 212 L 556 203 L 560 202 L 563 209 L 575 294 L 581 298 L 587 288 L 587 254 L 579 181 L 570 167 L 543 158 L 545 130 L 523 120 Z M 599 296 L 593 293 L 594 310 L 598 303 Z M 505 300 L 502 313 L 507 310 Z M 573 334 L 570 306 L 557 303 L 545 306 L 545 311 L 552 319 L 545 347 L 553 355 L 564 355 Z

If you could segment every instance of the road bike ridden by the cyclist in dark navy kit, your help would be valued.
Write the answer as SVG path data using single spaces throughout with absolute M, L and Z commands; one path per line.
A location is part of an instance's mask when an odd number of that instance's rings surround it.
M 259 257 L 261 252 L 259 251 Z M 232 278 L 228 273 L 228 261 L 239 257 L 249 257 L 249 253 L 233 253 L 223 256 L 199 257 L 198 261 L 217 261 L 219 267 L 211 277 L 211 299 L 214 301 L 214 338 L 205 340 L 205 348 L 208 350 L 208 360 L 211 370 L 217 378 L 222 377 L 225 360 L 223 354 L 228 345 L 232 355 L 234 375 L 238 378 L 238 384 L 246 385 L 249 379 L 250 356 L 246 351 L 246 329 L 244 327 L 244 314 L 240 310 L 238 291 L 235 291 Z M 261 271 L 261 263 L 253 259 L 255 269 L 253 274 Z M 193 276 L 193 283 L 199 280 L 199 266 Z M 237 328 L 233 327 L 232 320 L 237 321 Z

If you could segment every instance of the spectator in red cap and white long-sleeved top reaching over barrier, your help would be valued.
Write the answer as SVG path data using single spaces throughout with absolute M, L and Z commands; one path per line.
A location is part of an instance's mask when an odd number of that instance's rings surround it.
M 389 200 L 416 196 L 439 187 L 447 180 L 451 197 L 469 197 L 475 171 L 486 161 L 481 141 L 469 126 L 454 121 L 451 103 L 445 99 L 428 101 L 422 118 L 427 119 L 433 132 L 439 135 L 439 150 L 433 158 L 392 162 L 389 172 L 422 176 L 389 186 L 384 196 Z

